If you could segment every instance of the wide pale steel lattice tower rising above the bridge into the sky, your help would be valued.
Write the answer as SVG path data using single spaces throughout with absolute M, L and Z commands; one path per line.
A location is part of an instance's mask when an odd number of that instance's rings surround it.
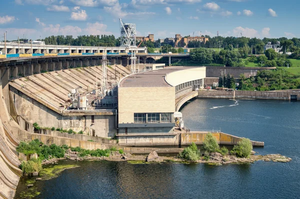
M 136 26 L 134 23 L 123 23 L 120 19 L 121 47 L 136 46 L 135 43 Z

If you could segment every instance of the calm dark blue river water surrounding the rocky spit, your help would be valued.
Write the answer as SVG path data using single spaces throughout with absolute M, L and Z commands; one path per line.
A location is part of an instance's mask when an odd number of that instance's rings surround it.
M 190 130 L 220 128 L 263 141 L 265 147 L 256 152 L 279 153 L 292 161 L 224 166 L 80 162 L 57 178 L 39 181 L 38 198 L 300 199 L 299 102 L 195 99 L 181 112 Z

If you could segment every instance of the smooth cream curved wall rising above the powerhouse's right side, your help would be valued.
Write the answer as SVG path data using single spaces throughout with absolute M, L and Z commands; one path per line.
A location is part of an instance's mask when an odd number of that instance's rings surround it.
M 205 76 L 206 67 L 196 67 L 168 73 L 164 80 L 171 86 L 177 86 L 185 82 L 204 79 Z

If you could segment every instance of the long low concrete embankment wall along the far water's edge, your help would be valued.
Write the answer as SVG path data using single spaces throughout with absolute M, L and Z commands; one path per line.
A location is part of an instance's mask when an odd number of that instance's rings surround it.
M 300 100 L 300 92 L 199 90 L 198 98 Z

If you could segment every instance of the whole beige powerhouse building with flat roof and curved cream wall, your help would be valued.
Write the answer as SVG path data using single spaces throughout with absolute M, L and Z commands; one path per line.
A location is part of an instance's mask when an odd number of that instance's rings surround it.
M 118 135 L 173 132 L 176 99 L 203 86 L 205 69 L 167 67 L 120 81 Z

